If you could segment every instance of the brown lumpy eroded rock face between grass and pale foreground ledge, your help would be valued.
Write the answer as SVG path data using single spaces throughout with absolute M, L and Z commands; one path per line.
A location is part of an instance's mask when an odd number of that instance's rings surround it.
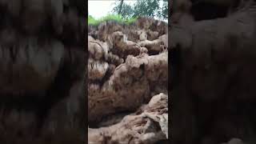
M 92 26 L 88 31 L 89 127 L 110 126 L 110 129 L 106 130 L 108 131 L 118 127 L 124 129 L 126 121 L 138 122 L 140 125 L 141 116 L 130 115 L 128 119 L 122 118 L 149 102 L 152 96 L 167 94 L 166 23 L 153 18 L 139 18 L 133 25 L 103 22 L 98 28 Z M 153 34 L 149 36 L 149 33 L 153 33 L 154 37 Z M 114 125 L 118 122 L 119 124 Z M 130 126 L 134 127 L 135 123 Z M 114 125 L 113 128 L 111 125 Z M 89 131 L 89 135 L 90 133 L 93 134 Z M 106 133 L 110 133 L 114 139 L 102 142 L 128 142 L 128 139 L 137 137 L 134 134 L 128 136 L 130 132 L 126 130 L 123 134 L 118 134 L 115 130 Z M 155 130 L 154 134 L 160 134 L 161 137 L 159 135 L 159 138 L 153 140 L 152 136 L 141 143 L 166 139 L 162 130 Z M 134 143 L 135 139 L 130 143 Z

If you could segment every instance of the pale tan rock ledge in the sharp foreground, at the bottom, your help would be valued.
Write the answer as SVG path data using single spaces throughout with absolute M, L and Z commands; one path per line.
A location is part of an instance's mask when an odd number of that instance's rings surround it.
M 88 128 L 88 142 L 150 144 L 168 138 L 168 96 L 158 94 L 113 126 Z

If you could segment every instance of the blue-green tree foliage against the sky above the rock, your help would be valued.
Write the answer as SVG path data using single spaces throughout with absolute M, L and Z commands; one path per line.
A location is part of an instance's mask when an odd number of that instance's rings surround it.
M 161 6 L 162 4 L 162 6 Z M 119 11 L 120 2 L 115 2 L 112 12 L 117 14 Z M 158 17 L 162 19 L 168 18 L 168 1 L 162 0 L 136 0 L 133 6 L 122 4 L 121 13 L 123 18 L 136 18 L 138 16 Z

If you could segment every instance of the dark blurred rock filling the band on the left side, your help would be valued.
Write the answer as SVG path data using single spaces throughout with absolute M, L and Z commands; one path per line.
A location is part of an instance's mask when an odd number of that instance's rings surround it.
M 0 142 L 84 141 L 84 2 L 0 0 Z

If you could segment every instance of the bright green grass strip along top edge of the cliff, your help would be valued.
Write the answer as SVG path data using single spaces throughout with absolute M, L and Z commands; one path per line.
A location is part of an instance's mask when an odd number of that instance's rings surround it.
M 98 26 L 100 23 L 102 22 L 106 22 L 106 21 L 115 21 L 115 22 L 119 22 L 119 23 L 126 23 L 126 24 L 130 24 L 133 23 L 137 20 L 137 18 L 123 18 L 122 15 L 118 15 L 118 14 L 108 14 L 105 17 L 102 18 L 98 18 L 95 19 L 93 18 L 91 15 L 89 15 L 88 17 L 88 25 L 90 26 Z

